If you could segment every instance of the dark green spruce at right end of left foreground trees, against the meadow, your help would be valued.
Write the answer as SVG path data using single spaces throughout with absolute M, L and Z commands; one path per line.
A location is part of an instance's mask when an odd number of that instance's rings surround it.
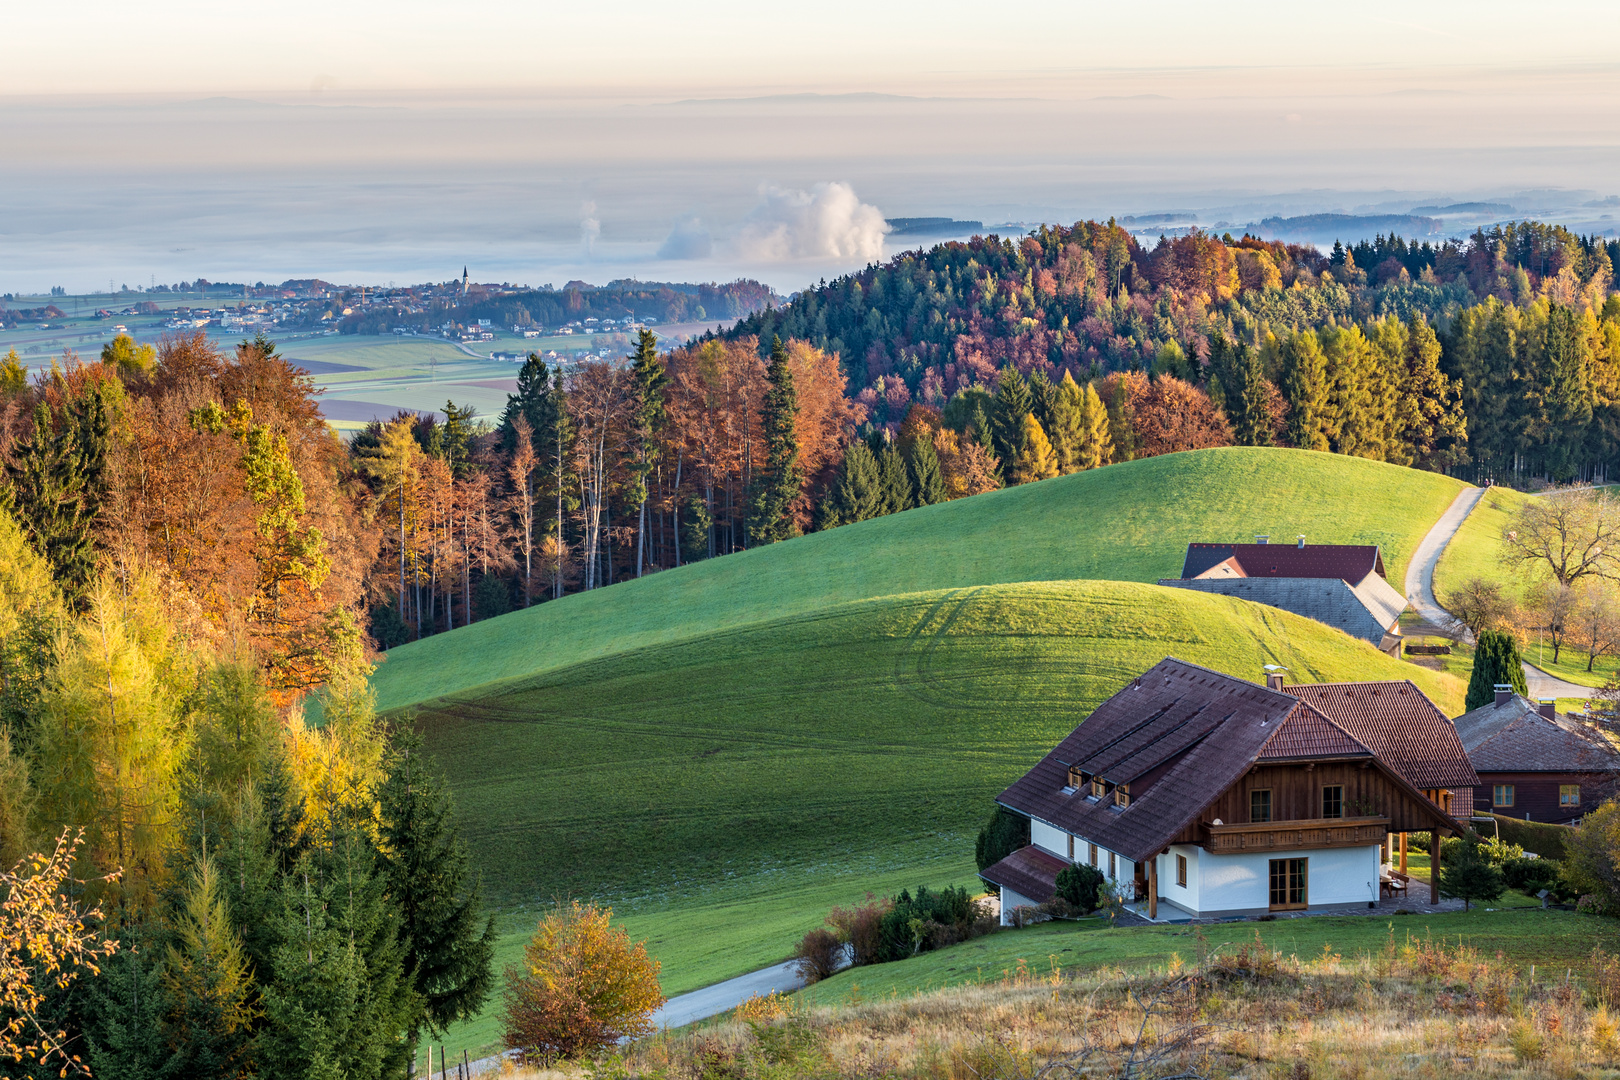
M 377 874 L 399 912 L 403 968 L 413 973 L 426 1025 L 444 1031 L 473 1017 L 494 986 L 494 916 L 483 912 L 467 845 L 455 832 L 450 792 L 423 758 L 421 737 L 400 735 L 377 789 Z

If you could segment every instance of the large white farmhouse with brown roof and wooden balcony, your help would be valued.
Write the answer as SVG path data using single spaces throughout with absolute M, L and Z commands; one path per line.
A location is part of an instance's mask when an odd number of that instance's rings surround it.
M 1366 910 L 1405 887 L 1388 863 L 1408 832 L 1463 831 L 1477 784 L 1409 682 L 1257 685 L 1166 657 L 1001 793 L 1030 845 L 980 873 L 1003 918 L 1051 899 L 1071 863 L 1149 918 Z

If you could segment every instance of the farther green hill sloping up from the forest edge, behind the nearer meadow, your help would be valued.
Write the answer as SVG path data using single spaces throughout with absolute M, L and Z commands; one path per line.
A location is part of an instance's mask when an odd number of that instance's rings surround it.
M 923 507 L 473 623 L 395 648 L 384 711 L 844 601 L 1008 581 L 1174 576 L 1189 541 L 1380 544 L 1406 559 L 1460 481 L 1306 450 L 1173 453 Z M 1157 657 L 1155 657 L 1157 659 Z

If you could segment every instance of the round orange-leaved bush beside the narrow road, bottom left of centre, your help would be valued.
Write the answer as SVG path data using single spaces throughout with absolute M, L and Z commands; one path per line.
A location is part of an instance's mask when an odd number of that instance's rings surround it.
M 505 1044 L 551 1064 L 648 1035 L 664 1004 L 658 960 L 612 925 L 612 908 L 557 904 L 505 972 Z

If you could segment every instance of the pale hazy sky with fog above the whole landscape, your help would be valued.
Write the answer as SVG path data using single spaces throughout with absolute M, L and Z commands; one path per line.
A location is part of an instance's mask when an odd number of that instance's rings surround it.
M 84 0 L 8 13 L 0 291 L 729 280 L 891 217 L 1406 212 L 1612 227 L 1597 3 Z M 1448 222 L 1448 227 L 1456 222 Z

